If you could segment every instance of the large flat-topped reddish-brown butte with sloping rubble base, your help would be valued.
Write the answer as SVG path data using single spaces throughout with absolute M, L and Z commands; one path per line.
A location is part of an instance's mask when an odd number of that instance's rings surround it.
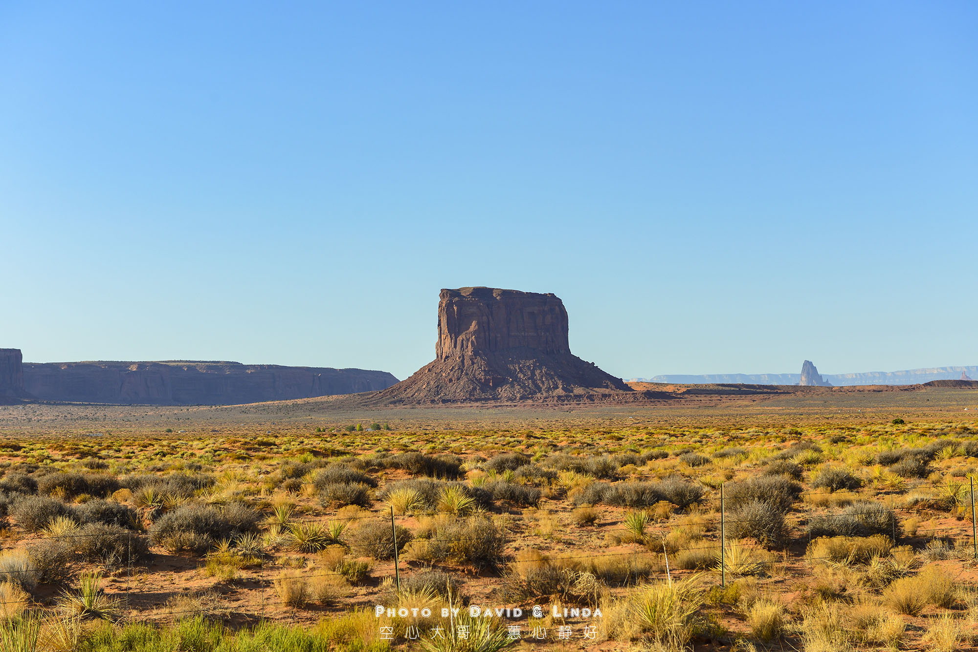
M 523 401 L 632 391 L 572 354 L 567 331 L 567 310 L 553 294 L 442 290 L 435 360 L 371 401 Z

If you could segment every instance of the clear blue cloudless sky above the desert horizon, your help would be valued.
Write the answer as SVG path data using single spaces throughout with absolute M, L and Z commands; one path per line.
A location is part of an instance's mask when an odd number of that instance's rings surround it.
M 0 346 L 383 369 L 554 292 L 618 376 L 978 364 L 974 2 L 0 3 Z

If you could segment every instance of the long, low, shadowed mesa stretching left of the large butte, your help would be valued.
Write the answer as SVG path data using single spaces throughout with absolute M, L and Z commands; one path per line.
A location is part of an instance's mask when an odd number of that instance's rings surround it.
M 23 365 L 40 400 L 152 405 L 237 405 L 390 387 L 384 371 L 239 362 L 52 362 Z

